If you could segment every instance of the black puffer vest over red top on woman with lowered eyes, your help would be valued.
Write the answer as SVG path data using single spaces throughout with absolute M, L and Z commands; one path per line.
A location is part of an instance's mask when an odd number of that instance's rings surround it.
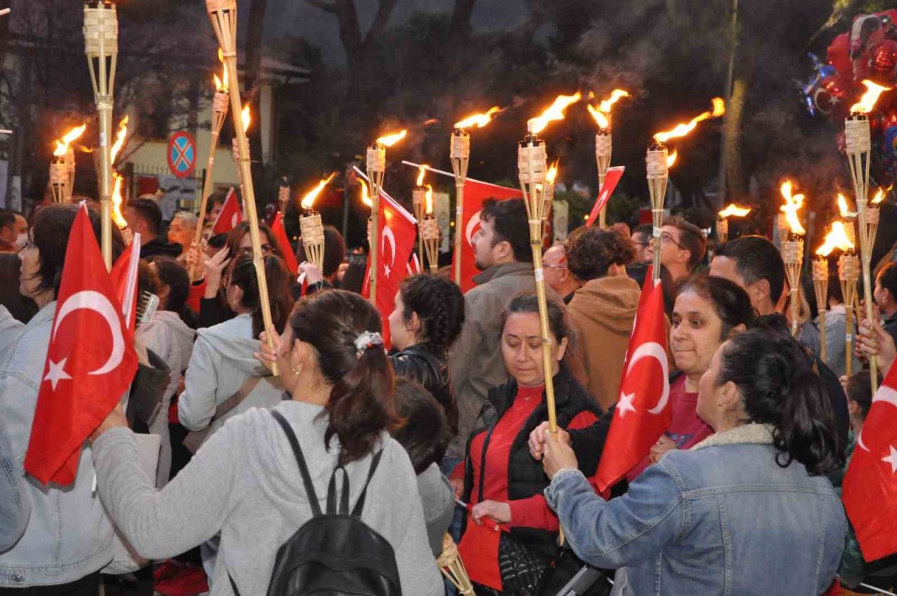
M 489 390 L 488 398 L 480 417 L 476 421 L 474 432 L 471 433 L 470 439 L 467 440 L 466 453 L 468 457 L 465 463 L 464 476 L 464 501 L 472 503 L 479 502 L 479 495 L 475 495 L 472 500 L 471 492 L 474 486 L 474 468 L 469 458 L 470 443 L 478 434 L 486 433 L 483 443 L 483 457 L 489 449 L 489 440 L 492 431 L 498 423 L 501 416 L 514 403 L 517 396 L 517 381 L 511 379 L 498 388 Z M 562 364 L 560 371 L 554 375 L 554 408 L 557 412 L 558 425 L 565 428 L 570 421 L 579 415 L 579 413 L 588 411 L 601 416 L 601 408 L 582 385 L 576 381 L 567 366 Z M 514 438 L 514 443 L 510 447 L 510 456 L 508 460 L 508 498 L 511 500 L 526 499 L 533 495 L 541 495 L 545 487 L 548 486 L 549 480 L 545 476 L 542 462 L 533 459 L 529 453 L 527 442 L 529 434 L 536 430 L 536 426 L 548 420 L 548 408 L 545 405 L 544 393 L 542 402 L 536 406 L 536 410 L 527 418 L 527 422 Z M 598 423 L 596 423 L 597 425 Z M 594 440 L 594 436 L 590 437 Z M 579 444 L 578 444 L 579 443 Z M 582 447 L 580 449 L 579 447 Z M 599 446 L 600 447 L 600 446 Z M 601 449 L 596 449 L 596 445 L 591 441 L 573 442 L 573 451 L 576 452 L 576 458 L 579 461 L 579 469 L 583 474 L 590 477 L 595 474 L 598 466 Z M 481 461 L 480 485 L 483 486 L 483 461 Z M 538 548 L 550 557 L 556 556 L 557 533 L 547 530 L 538 530 L 535 528 L 512 528 L 511 536 L 526 541 L 534 548 Z

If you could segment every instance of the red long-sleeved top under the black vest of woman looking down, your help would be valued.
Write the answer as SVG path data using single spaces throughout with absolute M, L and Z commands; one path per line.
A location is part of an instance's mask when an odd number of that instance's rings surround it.
M 536 406 L 542 403 L 544 386 L 518 387 L 514 403 L 501 416 L 492 431 L 489 439 L 489 449 L 486 451 L 486 473 L 483 478 L 483 501 L 498 501 L 510 505 L 510 527 L 523 526 L 539 530 L 557 531 L 558 520 L 543 495 L 533 495 L 526 499 L 508 498 L 508 463 L 510 448 L 520 433 L 520 429 L 526 424 L 527 418 L 536 410 Z M 579 412 L 570 420 L 567 430 L 585 428 L 594 424 L 597 416 L 588 410 Z M 483 442 L 486 433 L 477 434 L 470 442 L 468 457 L 474 469 L 474 487 L 471 491 L 470 504 L 479 501 L 480 463 L 483 459 Z M 464 465 L 462 461 L 452 472 L 452 478 L 464 478 Z

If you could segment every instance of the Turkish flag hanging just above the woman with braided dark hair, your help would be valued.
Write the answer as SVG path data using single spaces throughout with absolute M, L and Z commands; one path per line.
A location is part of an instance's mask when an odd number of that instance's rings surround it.
M 377 311 L 383 321 L 384 345 L 389 349 L 389 315 L 395 310 L 398 285 L 408 276 L 408 260 L 414 251 L 417 220 L 396 203 L 388 194 L 380 191 L 380 241 L 377 258 Z M 370 298 L 370 259 L 364 275 L 362 295 Z

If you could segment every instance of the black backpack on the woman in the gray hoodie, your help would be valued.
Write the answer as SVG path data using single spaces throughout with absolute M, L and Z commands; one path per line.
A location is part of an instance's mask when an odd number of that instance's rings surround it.
M 396 553 L 387 539 L 361 522 L 364 497 L 383 451 L 374 455 L 368 479 L 352 513 L 349 513 L 349 475 L 342 465 L 330 476 L 327 513 L 321 513 L 296 435 L 279 412 L 271 414 L 283 426 L 299 462 L 312 518 L 277 550 L 268 596 L 401 596 Z M 338 470 L 343 470 L 344 483 L 337 512 Z

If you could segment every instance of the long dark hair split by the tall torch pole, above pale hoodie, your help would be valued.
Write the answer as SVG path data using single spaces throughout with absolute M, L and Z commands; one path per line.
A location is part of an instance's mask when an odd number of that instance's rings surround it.
M 271 322 L 274 329 L 283 330 L 287 317 L 292 311 L 290 295 L 290 272 L 283 259 L 269 256 L 265 258 L 265 279 L 268 285 L 268 303 L 271 305 Z M 231 269 L 231 285 L 238 285 L 243 290 L 243 306 L 252 309 L 252 337 L 265 330 L 265 320 L 258 295 L 258 278 L 256 265 L 252 255 L 243 255 L 233 263 Z

